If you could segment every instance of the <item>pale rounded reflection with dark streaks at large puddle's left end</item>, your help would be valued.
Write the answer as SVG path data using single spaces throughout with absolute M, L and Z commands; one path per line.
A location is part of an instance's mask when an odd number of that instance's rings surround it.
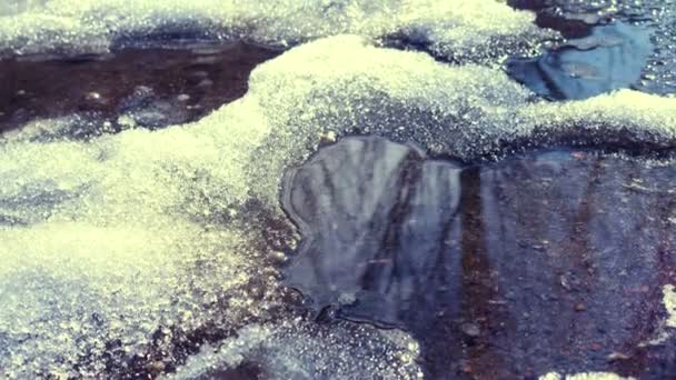
M 291 171 L 285 204 L 306 238 L 286 269 L 316 306 L 384 326 L 429 326 L 459 282 L 459 170 L 411 147 L 350 138 Z M 415 254 L 411 254 L 415 253 Z M 443 304 L 438 304 L 441 302 Z

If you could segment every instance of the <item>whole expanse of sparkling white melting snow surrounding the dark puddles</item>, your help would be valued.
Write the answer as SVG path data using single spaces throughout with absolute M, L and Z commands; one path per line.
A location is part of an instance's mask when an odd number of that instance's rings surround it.
M 171 362 L 177 341 L 213 324 L 240 333 L 213 348 L 215 357 L 203 350 L 187 373 L 200 371 L 202 359 L 235 364 L 251 356 L 281 378 L 317 366 L 354 378 L 419 376 L 408 338 L 347 327 L 319 333 L 290 312 L 279 317 L 267 218 L 284 217 L 285 168 L 321 136 L 354 129 L 464 159 L 541 136 L 584 140 L 589 131 L 674 146 L 676 99 L 626 90 L 538 102 L 498 69 L 451 67 L 372 42 L 404 31 L 437 54 L 475 60 L 496 46 L 510 51 L 509 41 L 540 39 L 531 20 L 475 0 L 54 0 L 0 17 L 0 47 L 19 53 L 100 51 L 186 23 L 277 43 L 361 34 L 319 39 L 261 64 L 243 98 L 196 123 L 83 142 L 71 141 L 69 120 L 59 119 L 4 136 L 0 376 L 101 377 L 149 347 Z M 60 127 L 46 136 L 48 126 Z M 338 357 L 321 357 L 324 344 Z

